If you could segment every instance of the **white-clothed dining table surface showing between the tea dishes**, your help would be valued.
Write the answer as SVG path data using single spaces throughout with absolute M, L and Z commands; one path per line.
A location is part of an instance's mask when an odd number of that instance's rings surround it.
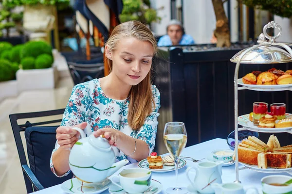
M 208 161 L 207 158 L 211 155 L 211 152 L 217 149 L 229 149 L 226 139 L 216 138 L 216 139 L 212 139 L 206 142 L 202 142 L 197 145 L 185 147 L 181 153 L 181 156 L 191 157 L 197 160 L 203 159 L 200 162 L 204 162 L 204 161 Z M 167 154 L 169 153 L 166 153 L 163 155 L 167 155 Z M 184 158 L 184 159 L 187 162 L 186 165 L 183 168 L 178 170 L 179 186 L 190 188 L 189 185 L 191 183 L 187 178 L 186 170 L 188 167 L 197 166 L 199 162 L 193 162 L 191 159 L 188 159 L 188 158 Z M 136 167 L 138 167 L 138 162 L 122 167 L 112 176 L 117 175 L 120 171 L 124 169 L 136 168 Z M 239 170 L 239 180 L 241 181 L 244 189 L 253 187 L 258 190 L 259 194 L 262 194 L 261 178 L 271 175 L 271 174 L 256 172 L 254 170 L 244 168 L 244 166 L 241 164 L 239 164 L 239 168 L 243 168 L 242 170 Z M 189 176 L 191 180 L 194 179 L 195 174 L 196 174 L 195 170 L 190 171 Z M 277 174 L 288 175 L 287 173 L 277 173 Z M 152 178 L 161 182 L 161 184 L 163 185 L 163 189 L 161 191 L 162 194 L 165 194 L 165 190 L 168 187 L 172 187 L 176 185 L 176 177 L 175 177 L 174 170 L 167 173 L 152 173 Z M 222 178 L 222 183 L 234 182 L 236 180 L 235 165 L 222 167 L 221 178 Z M 249 191 L 249 193 L 253 193 L 253 191 L 251 190 Z M 61 184 L 59 184 L 59 185 L 55 185 L 55 186 L 37 191 L 35 192 L 35 194 L 66 194 L 66 193 L 62 191 Z M 106 190 L 102 194 L 109 194 L 109 191 Z M 196 194 L 196 193 L 189 191 L 189 194 Z

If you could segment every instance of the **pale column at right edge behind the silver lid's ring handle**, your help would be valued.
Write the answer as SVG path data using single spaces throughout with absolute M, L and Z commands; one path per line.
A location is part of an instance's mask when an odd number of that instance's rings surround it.
M 282 27 L 282 35 L 276 39 L 276 42 L 292 43 L 292 20 L 291 18 L 274 15 L 274 21 Z M 274 35 L 278 34 L 278 29 L 274 29 Z

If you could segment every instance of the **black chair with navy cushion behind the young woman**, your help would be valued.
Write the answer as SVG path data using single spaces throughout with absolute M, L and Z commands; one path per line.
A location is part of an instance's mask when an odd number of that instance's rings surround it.
M 48 124 L 60 123 L 62 119 L 48 120 L 45 122 L 31 123 L 26 121 L 25 124 L 18 125 L 18 119 L 28 119 L 43 116 L 62 115 L 65 109 L 53 111 L 35 112 L 35 113 L 17 113 L 10 114 L 10 123 L 12 126 L 14 139 L 18 149 L 18 156 L 23 171 L 23 177 L 27 193 L 32 193 L 44 188 L 48 188 L 73 177 L 73 174 L 63 178 L 56 177 L 50 168 L 50 158 L 52 150 L 55 147 L 55 135 L 58 126 L 43 126 Z M 61 117 L 61 116 L 60 116 Z M 29 166 L 20 132 L 24 131 Z

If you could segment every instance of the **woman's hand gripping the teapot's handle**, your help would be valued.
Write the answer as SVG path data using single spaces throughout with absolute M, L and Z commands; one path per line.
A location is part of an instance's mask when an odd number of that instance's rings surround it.
M 83 122 L 73 127 L 85 129 L 86 126 L 87 123 Z M 73 127 L 60 126 L 56 129 L 56 139 L 61 149 L 70 149 L 78 141 L 80 134 L 78 131 L 72 129 Z

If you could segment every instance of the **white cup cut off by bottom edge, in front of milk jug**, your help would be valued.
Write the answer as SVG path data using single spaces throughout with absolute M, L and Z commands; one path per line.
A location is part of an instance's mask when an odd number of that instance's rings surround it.
M 230 183 L 214 183 L 211 184 L 215 190 L 215 194 L 245 194 L 242 184 L 230 182 Z M 253 190 L 252 194 L 258 194 L 257 189 L 253 187 L 249 187 L 246 192 L 249 190 Z

